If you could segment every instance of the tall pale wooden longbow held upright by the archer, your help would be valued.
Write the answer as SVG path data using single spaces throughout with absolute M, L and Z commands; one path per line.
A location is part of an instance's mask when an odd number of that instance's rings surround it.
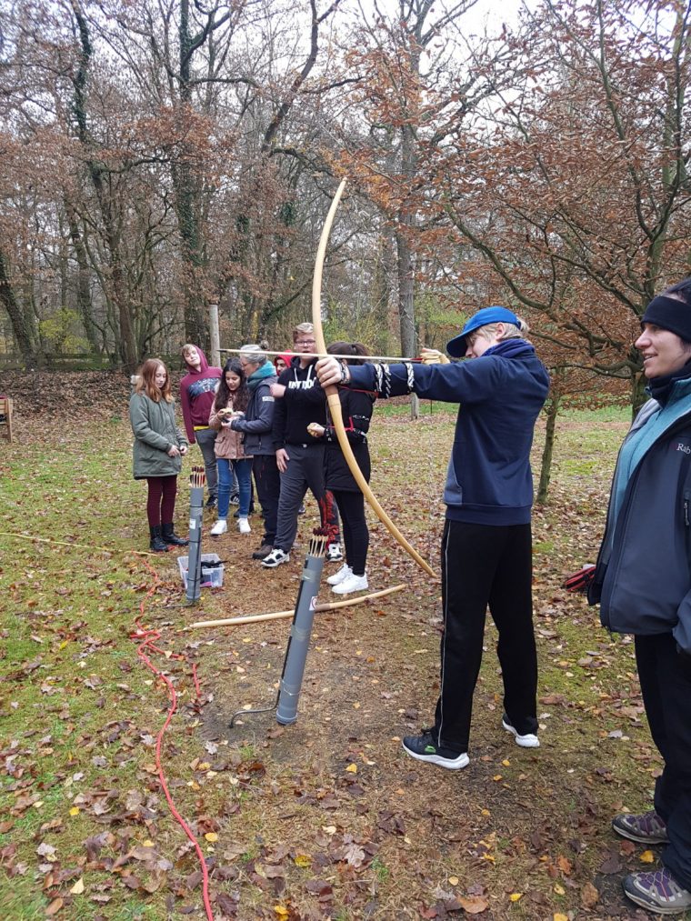
M 314 277 L 312 279 L 312 325 L 314 327 L 315 338 L 317 340 L 317 348 L 322 354 L 326 353 L 326 341 L 324 339 L 324 332 L 322 328 L 322 272 L 324 267 L 324 258 L 326 256 L 326 246 L 329 242 L 329 234 L 331 233 L 331 227 L 334 224 L 336 209 L 338 208 L 338 204 L 341 201 L 341 195 L 343 195 L 344 189 L 345 179 L 342 180 L 341 184 L 338 186 L 338 189 L 334 195 L 334 201 L 331 203 L 329 213 L 327 214 L 326 220 L 324 221 L 324 226 L 322 227 L 322 236 L 319 240 L 319 247 L 317 248 L 317 258 L 314 262 Z M 411 544 L 405 540 L 401 531 L 398 530 L 398 528 L 396 528 L 396 526 L 393 524 L 392 519 L 389 518 L 384 509 L 381 507 L 376 495 L 374 495 L 374 493 L 369 488 L 369 483 L 357 465 L 355 455 L 353 454 L 353 449 L 350 447 L 350 442 L 348 441 L 348 437 L 345 434 L 343 414 L 341 413 L 341 401 L 338 398 L 338 388 L 334 387 L 332 384 L 329 387 L 324 387 L 324 392 L 326 393 L 326 401 L 329 404 L 329 410 L 331 411 L 331 418 L 334 422 L 336 437 L 338 438 L 338 444 L 341 446 L 341 450 L 343 451 L 345 462 L 347 463 L 350 472 L 353 474 L 357 485 L 362 490 L 362 494 L 369 502 L 369 506 L 374 510 L 377 518 L 380 519 L 381 523 L 387 528 L 387 530 L 389 530 L 396 541 L 401 544 L 401 546 L 404 548 L 404 551 L 413 557 L 413 559 L 416 561 L 416 564 L 422 566 L 428 576 L 437 578 L 437 573 L 435 573 L 427 561 L 417 553 L 415 547 L 411 546 Z

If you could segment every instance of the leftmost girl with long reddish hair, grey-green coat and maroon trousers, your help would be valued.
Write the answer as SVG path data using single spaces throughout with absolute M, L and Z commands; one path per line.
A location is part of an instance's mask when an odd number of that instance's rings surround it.
M 187 441 L 175 423 L 168 371 L 156 358 L 149 358 L 139 370 L 135 392 L 130 398 L 130 422 L 135 434 L 135 480 L 146 480 L 148 485 L 149 546 L 157 554 L 166 553 L 169 543 L 187 546 L 188 541 L 178 537 L 172 523 L 178 473 L 182 455 L 187 453 Z

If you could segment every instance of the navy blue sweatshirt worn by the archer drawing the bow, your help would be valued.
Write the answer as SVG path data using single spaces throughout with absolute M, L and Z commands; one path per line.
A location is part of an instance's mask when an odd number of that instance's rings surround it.
M 524 339 L 448 365 L 350 367 L 354 386 L 385 399 L 415 392 L 460 402 L 444 487 L 446 517 L 472 524 L 527 524 L 533 506 L 533 428 L 549 375 Z

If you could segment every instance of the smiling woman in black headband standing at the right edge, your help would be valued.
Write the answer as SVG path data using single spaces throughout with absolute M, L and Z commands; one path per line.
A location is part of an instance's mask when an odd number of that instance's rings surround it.
M 617 815 L 617 834 L 666 844 L 662 869 L 631 873 L 650 912 L 691 908 L 691 278 L 654 297 L 636 347 L 650 401 L 619 451 L 588 600 L 603 626 L 633 634 L 650 733 L 664 769 L 654 809 Z

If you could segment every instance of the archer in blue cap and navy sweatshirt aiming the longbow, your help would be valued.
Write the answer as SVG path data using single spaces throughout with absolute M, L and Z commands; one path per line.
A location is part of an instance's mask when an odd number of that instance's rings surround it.
M 465 361 L 424 350 L 422 364 L 342 367 L 334 358 L 317 363 L 322 386 L 341 384 L 384 398 L 415 392 L 426 400 L 460 403 L 444 487 L 439 700 L 432 729 L 403 741 L 411 757 L 452 771 L 469 761 L 487 607 L 499 634 L 501 725 L 523 748 L 540 744 L 530 451 L 549 376 L 523 338 L 526 329 L 511 310 L 487 307 L 448 345 L 451 356 Z

